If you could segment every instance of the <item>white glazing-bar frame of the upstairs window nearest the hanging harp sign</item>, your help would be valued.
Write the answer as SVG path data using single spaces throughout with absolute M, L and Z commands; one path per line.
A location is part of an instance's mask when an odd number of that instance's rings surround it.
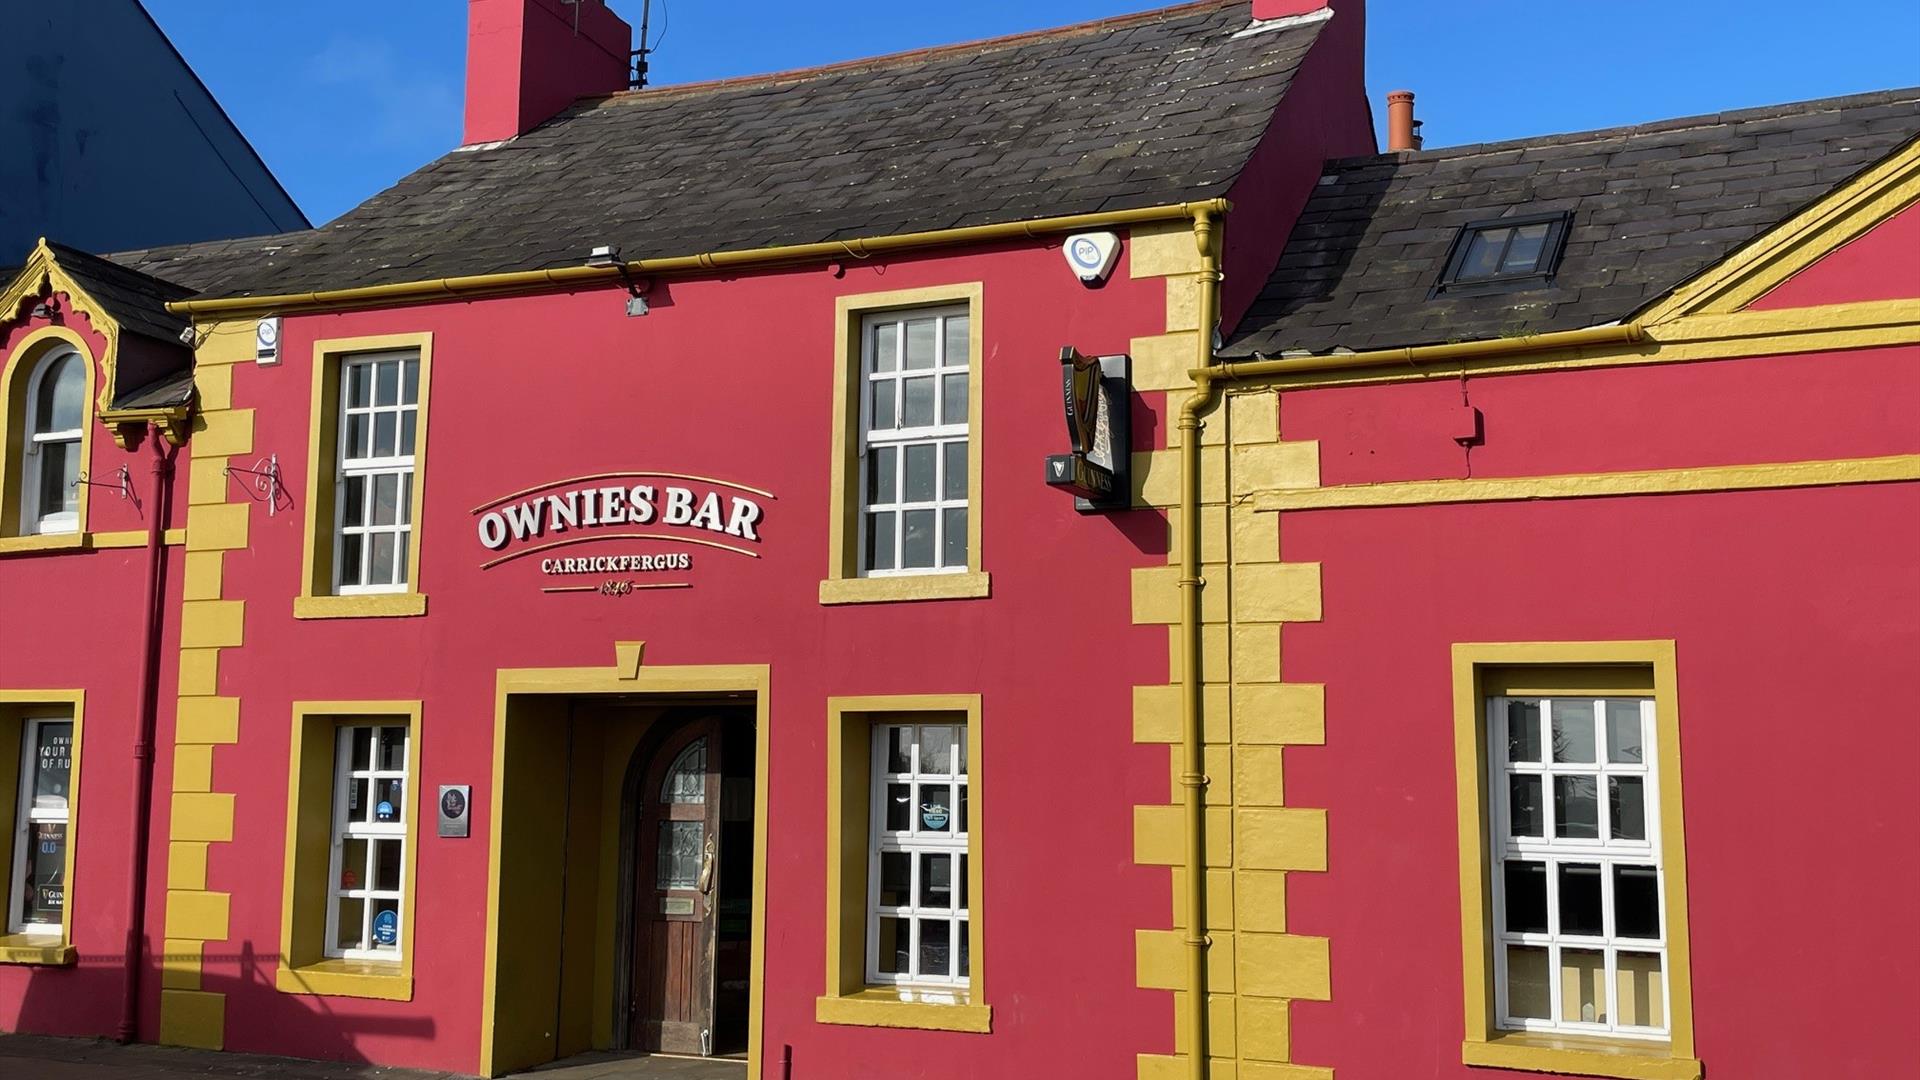
M 947 348 L 947 323 L 948 319 L 966 319 L 968 348 L 960 350 L 960 356 L 950 356 Z M 912 321 L 933 319 L 933 367 L 906 369 L 906 325 Z M 893 348 L 895 348 L 895 367 L 893 371 L 879 371 L 879 334 L 881 329 L 893 329 Z M 968 484 L 966 479 L 960 480 L 960 496 L 954 498 L 947 492 L 947 471 L 948 455 L 952 454 L 948 446 L 958 446 L 958 457 L 962 467 L 972 467 L 968 457 L 968 440 L 972 434 L 972 380 L 977 373 L 970 369 L 972 361 L 972 334 L 977 332 L 972 319 L 972 307 L 968 304 L 947 304 L 939 307 L 910 307 L 899 311 L 874 311 L 860 317 L 860 528 L 858 528 L 858 555 L 854 563 L 860 569 L 860 577 L 918 577 L 918 575 L 960 575 L 968 573 L 972 552 L 962 550 L 958 561 L 947 561 L 947 511 L 962 511 L 962 544 L 968 544 L 968 519 L 966 515 L 975 513 L 975 507 L 968 505 Z M 874 388 L 881 382 L 893 384 L 893 409 L 895 419 L 900 419 L 906 407 L 906 380 L 914 377 L 929 377 L 933 382 L 933 417 L 943 421 L 947 409 L 945 382 L 948 377 L 962 377 L 968 380 L 968 417 L 960 423 L 931 423 L 918 427 L 895 427 L 879 429 L 874 427 Z M 933 446 L 933 500 L 906 500 L 906 454 L 910 446 Z M 876 454 L 893 454 L 893 500 L 876 502 L 870 500 L 870 473 L 874 469 Z M 933 511 L 933 565 L 931 567 L 902 567 L 906 555 L 906 513 L 912 511 Z M 868 536 L 874 528 L 874 519 L 877 515 L 889 515 L 893 519 L 893 563 L 889 567 L 876 569 L 868 559 Z

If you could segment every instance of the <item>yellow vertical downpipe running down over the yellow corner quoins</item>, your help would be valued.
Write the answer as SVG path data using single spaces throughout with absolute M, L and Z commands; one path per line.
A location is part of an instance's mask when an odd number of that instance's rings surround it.
M 1200 248 L 1200 331 L 1194 334 L 1200 367 L 1194 392 L 1181 402 L 1181 788 L 1187 819 L 1187 1076 L 1208 1080 L 1206 965 L 1212 938 L 1206 926 L 1206 757 L 1200 701 L 1200 413 L 1213 407 L 1213 323 L 1219 321 L 1219 256 L 1213 213 L 1192 213 Z

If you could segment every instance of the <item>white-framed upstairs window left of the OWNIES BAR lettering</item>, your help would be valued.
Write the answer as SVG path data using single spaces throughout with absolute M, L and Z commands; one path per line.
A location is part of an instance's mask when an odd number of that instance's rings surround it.
M 407 592 L 419 411 L 419 354 L 384 352 L 342 361 L 336 594 Z

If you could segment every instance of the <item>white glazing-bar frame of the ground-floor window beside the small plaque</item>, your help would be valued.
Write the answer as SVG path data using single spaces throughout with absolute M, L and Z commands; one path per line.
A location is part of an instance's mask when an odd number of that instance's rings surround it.
M 353 769 L 353 732 L 371 732 L 371 742 L 367 749 L 367 769 Z M 380 769 L 380 732 L 399 730 L 399 769 Z M 411 803 L 413 778 L 407 776 L 407 761 L 413 753 L 413 730 L 405 723 L 386 723 L 371 721 L 361 724 L 340 724 L 334 728 L 334 813 L 332 813 L 332 851 L 326 863 L 326 938 L 324 955 L 332 959 L 349 961 L 399 961 L 405 955 L 407 934 L 413 930 L 407 926 L 407 872 L 411 861 L 407 859 L 407 807 Z M 367 780 L 367 801 L 359 807 L 359 819 L 349 805 L 349 792 L 353 790 L 353 780 Z M 399 780 L 399 801 L 394 805 L 394 821 L 374 821 L 374 807 L 378 805 L 380 780 Z M 340 874 L 346 869 L 346 846 L 348 840 L 367 842 L 367 859 L 359 869 L 359 884 L 346 888 L 340 884 Z M 399 888 L 376 890 L 374 871 L 378 867 L 378 844 L 394 842 L 399 844 Z M 359 899 L 361 901 L 361 942 L 367 947 L 346 949 L 340 947 L 340 901 Z M 399 920 L 399 934 L 394 938 L 392 945 L 372 945 L 372 919 L 374 901 L 392 899 L 394 913 Z

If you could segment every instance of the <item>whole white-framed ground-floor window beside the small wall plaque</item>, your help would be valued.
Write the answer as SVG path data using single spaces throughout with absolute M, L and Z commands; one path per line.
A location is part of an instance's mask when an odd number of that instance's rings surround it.
M 401 957 L 407 782 L 407 724 L 344 724 L 334 732 L 328 957 Z

